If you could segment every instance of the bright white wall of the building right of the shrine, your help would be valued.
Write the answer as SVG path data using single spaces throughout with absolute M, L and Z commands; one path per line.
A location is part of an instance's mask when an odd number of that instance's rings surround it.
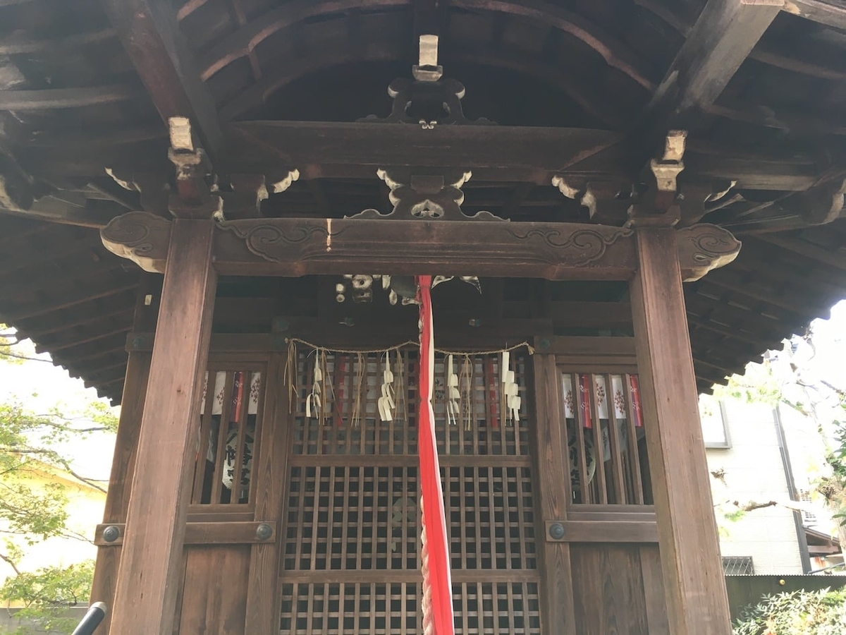
M 711 479 L 714 503 L 788 500 L 772 408 L 731 400 L 725 402 L 725 412 L 731 447 L 706 450 L 708 469 L 725 472 L 725 485 Z M 721 509 L 737 508 L 731 502 L 717 507 L 717 522 L 725 534 L 720 539 L 723 556 L 752 556 L 757 574 L 802 573 L 793 511 L 776 505 L 731 522 L 720 518 Z

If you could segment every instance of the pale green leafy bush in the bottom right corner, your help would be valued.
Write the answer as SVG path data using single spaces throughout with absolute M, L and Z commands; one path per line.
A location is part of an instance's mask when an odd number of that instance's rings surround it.
M 843 635 L 846 590 L 765 595 L 734 623 L 734 635 Z

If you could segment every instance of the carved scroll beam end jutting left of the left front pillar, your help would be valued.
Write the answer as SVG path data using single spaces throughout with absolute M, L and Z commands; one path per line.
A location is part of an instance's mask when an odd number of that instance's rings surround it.
M 108 251 L 135 262 L 151 273 L 164 273 L 171 221 L 148 212 L 129 212 L 113 218 L 100 230 Z

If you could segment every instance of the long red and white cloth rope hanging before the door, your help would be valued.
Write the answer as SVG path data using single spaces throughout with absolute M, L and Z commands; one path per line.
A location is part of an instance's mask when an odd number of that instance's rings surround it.
M 453 581 L 449 571 L 447 519 L 443 511 L 441 468 L 437 460 L 435 413 L 431 408 L 435 375 L 435 342 L 431 315 L 431 276 L 417 276 L 420 301 L 420 395 L 418 417 L 418 453 L 420 455 L 420 490 L 423 494 L 423 531 L 428 551 L 428 583 L 431 588 L 431 622 L 436 635 L 454 635 Z M 426 617 L 424 617 L 426 619 Z

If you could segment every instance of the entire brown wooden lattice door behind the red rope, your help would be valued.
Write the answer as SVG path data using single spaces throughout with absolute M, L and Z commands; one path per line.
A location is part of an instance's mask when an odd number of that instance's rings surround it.
M 503 407 L 497 356 L 454 357 L 458 411 L 448 405 L 447 363 L 436 360 L 453 606 L 456 632 L 465 635 L 541 632 L 526 361 L 512 360 L 519 420 Z M 386 362 L 319 358 L 321 403 L 306 417 L 315 353 L 298 357 L 283 527 L 286 635 L 422 632 L 417 359 L 414 351 L 390 357 L 398 387 L 392 421 L 378 414 Z

